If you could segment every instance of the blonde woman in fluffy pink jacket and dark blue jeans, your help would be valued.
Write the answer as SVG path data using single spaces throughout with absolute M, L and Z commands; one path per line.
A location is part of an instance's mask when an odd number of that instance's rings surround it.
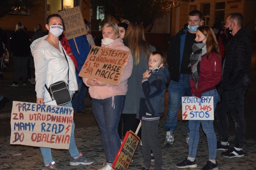
M 105 23 L 102 29 L 102 36 L 102 47 L 130 51 L 123 44 L 116 23 Z M 130 78 L 132 70 L 133 56 L 130 55 L 118 86 L 100 82 L 96 78 L 83 78 L 84 83 L 89 87 L 89 93 L 92 97 L 93 114 L 99 126 L 102 146 L 107 160 L 107 164 L 100 170 L 112 169 L 112 162 L 121 146 L 117 127 L 123 112 L 127 93 L 127 80 Z

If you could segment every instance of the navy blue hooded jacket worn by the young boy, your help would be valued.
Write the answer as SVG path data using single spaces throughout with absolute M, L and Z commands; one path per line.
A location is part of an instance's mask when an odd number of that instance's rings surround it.
M 150 75 L 148 81 L 142 82 L 139 115 L 137 115 L 137 119 L 142 119 L 142 116 L 160 117 L 163 115 L 164 95 L 166 83 L 169 82 L 169 79 L 168 67 L 163 65 L 162 69 Z

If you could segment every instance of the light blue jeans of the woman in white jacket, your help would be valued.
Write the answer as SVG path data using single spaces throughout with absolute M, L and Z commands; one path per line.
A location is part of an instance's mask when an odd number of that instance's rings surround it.
M 61 106 L 72 107 L 72 104 L 71 104 L 71 102 L 69 102 L 69 103 L 63 104 Z M 70 136 L 70 142 L 69 142 L 69 154 L 71 155 L 71 157 L 78 157 L 80 154 L 79 154 L 79 151 L 78 151 L 78 149 L 76 147 L 76 144 L 75 144 L 74 131 L 75 131 L 75 123 L 73 121 L 71 136 Z M 42 157 L 44 159 L 44 164 L 45 165 L 48 165 L 51 162 L 53 162 L 51 148 L 40 147 L 40 151 L 41 151 Z

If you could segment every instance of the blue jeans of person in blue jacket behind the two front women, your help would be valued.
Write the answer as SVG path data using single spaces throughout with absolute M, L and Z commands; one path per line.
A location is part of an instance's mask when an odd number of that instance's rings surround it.
M 78 93 L 75 93 L 72 98 L 72 106 L 75 111 L 84 110 L 84 99 L 87 91 L 87 87 L 83 82 L 78 82 Z

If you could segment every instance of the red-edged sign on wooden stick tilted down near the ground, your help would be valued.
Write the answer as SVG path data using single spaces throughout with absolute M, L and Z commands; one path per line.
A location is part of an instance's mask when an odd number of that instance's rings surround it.
M 126 132 L 123 143 L 113 162 L 112 168 L 115 170 L 127 170 L 138 145 L 139 137 L 131 130 L 130 132 Z

